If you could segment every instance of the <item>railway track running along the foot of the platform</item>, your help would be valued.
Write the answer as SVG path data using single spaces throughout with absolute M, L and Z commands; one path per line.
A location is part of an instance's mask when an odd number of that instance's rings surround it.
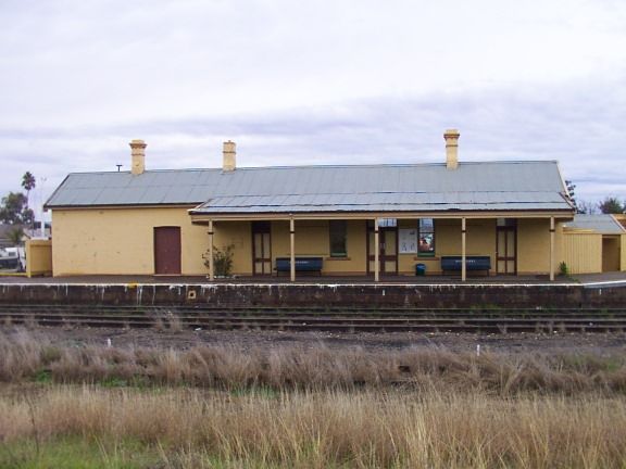
M 626 308 L 0 305 L 0 324 L 336 332 L 623 332 Z

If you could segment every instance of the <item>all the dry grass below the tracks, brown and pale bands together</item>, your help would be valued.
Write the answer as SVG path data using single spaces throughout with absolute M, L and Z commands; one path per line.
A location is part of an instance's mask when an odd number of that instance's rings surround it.
M 28 455 L 70 439 L 116 448 L 111 460 L 138 443 L 161 461 L 141 467 L 623 468 L 625 362 L 60 347 L 15 330 L 0 335 L 0 380 L 17 383 L 0 388 L 0 467 L 53 467 Z M 93 382 L 118 388 L 67 384 Z

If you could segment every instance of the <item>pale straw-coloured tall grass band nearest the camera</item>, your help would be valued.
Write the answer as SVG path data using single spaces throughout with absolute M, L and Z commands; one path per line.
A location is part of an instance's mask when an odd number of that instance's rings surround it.
M 139 441 L 190 468 L 214 467 L 210 460 L 221 467 L 618 468 L 626 465 L 626 406 L 591 396 L 398 390 L 233 395 L 60 386 L 0 397 L 4 444 L 76 436 L 117 446 Z

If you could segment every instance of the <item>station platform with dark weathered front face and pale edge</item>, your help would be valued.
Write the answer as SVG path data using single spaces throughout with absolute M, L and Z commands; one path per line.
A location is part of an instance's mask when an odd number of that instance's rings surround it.
M 366 278 L 302 277 L 230 279 L 98 276 L 3 279 L 1 304 L 211 305 L 212 307 L 347 308 L 626 308 L 624 276 L 587 276 L 549 282 L 541 278 L 402 277 L 375 283 Z M 9 281 L 8 281 L 9 280 Z M 385 279 L 387 280 L 387 279 Z

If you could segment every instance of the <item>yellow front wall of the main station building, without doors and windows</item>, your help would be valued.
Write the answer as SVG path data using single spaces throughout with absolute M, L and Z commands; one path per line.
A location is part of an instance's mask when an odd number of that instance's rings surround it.
M 206 275 L 202 255 L 209 248 L 208 227 L 192 225 L 189 207 L 138 207 L 54 210 L 52 265 L 55 276 L 153 275 L 153 229 L 180 227 L 181 274 Z M 399 220 L 398 228 L 413 228 L 416 220 Z M 346 258 L 329 255 L 328 220 L 296 220 L 296 255 L 322 256 L 325 275 L 363 275 L 367 269 L 367 225 L 363 219 L 347 224 Z M 215 221 L 214 245 L 234 245 L 233 272 L 252 274 L 251 221 Z M 289 223 L 272 221 L 272 265 L 289 256 Z M 562 231 L 555 236 L 555 267 L 561 261 Z M 489 255 L 496 268 L 496 219 L 467 219 L 467 255 Z M 517 269 L 519 274 L 549 270 L 548 219 L 519 219 Z M 424 263 L 427 274 L 440 272 L 440 256 L 461 254 L 461 220 L 435 220 L 435 257 L 399 254 L 399 274 L 414 275 Z M 624 253 L 625 250 L 622 250 Z

